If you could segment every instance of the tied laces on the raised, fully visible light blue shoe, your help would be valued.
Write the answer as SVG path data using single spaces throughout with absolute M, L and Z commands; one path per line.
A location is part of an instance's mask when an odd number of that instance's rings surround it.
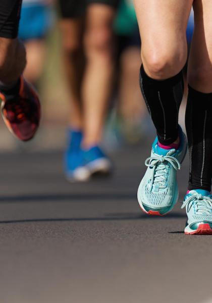
M 152 169 L 149 181 L 150 190 L 159 191 L 167 187 L 170 167 L 180 170 L 180 162 L 172 156 L 153 156 L 145 161 L 145 165 Z

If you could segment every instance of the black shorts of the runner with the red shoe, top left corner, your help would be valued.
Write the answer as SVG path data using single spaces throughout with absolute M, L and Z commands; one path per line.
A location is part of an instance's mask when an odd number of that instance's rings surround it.
M 0 37 L 16 38 L 22 0 L 0 0 Z

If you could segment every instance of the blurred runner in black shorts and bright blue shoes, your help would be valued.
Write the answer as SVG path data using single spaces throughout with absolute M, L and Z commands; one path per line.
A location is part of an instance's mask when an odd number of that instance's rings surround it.
M 112 169 L 99 145 L 113 85 L 117 5 L 118 0 L 60 0 L 71 104 L 65 157 L 69 180 L 87 180 Z

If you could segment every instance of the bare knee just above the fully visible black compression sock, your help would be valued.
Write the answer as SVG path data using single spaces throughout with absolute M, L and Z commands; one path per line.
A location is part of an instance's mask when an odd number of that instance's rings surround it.
M 149 77 L 167 79 L 179 73 L 185 65 L 186 56 L 176 49 L 169 52 L 167 49 L 142 52 L 144 69 Z

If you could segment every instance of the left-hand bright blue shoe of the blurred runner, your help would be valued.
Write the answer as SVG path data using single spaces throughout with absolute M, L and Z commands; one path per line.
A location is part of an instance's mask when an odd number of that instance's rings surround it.
M 90 172 L 84 166 L 84 153 L 81 149 L 82 132 L 68 130 L 68 144 L 65 151 L 65 174 L 69 181 L 86 181 Z

